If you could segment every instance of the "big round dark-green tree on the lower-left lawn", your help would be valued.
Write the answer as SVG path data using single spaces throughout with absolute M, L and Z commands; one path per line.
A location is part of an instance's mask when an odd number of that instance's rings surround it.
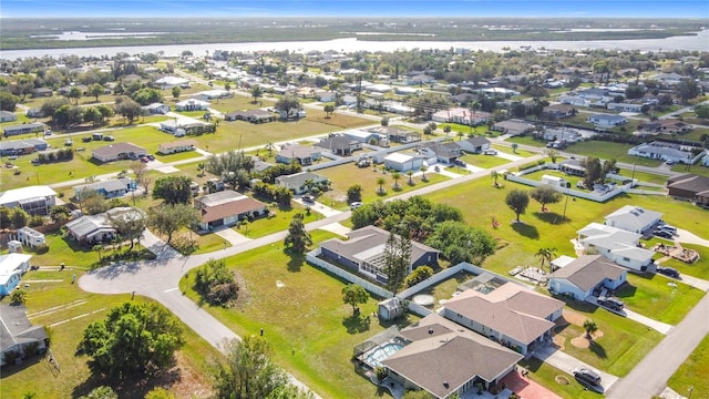
M 79 351 L 94 374 L 125 379 L 169 367 L 183 345 L 179 321 L 164 307 L 124 303 L 86 327 Z

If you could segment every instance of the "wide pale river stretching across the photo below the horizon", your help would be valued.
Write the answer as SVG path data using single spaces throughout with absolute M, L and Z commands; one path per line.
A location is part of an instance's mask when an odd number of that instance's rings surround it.
M 246 43 L 209 43 L 209 44 L 172 44 L 172 45 L 122 45 L 101 48 L 72 48 L 72 49 L 30 49 L 0 51 L 0 59 L 16 60 L 28 57 L 60 57 L 75 54 L 79 57 L 113 57 L 119 52 L 129 54 L 157 53 L 163 51 L 165 55 L 179 55 L 183 51 L 192 51 L 193 54 L 212 53 L 222 51 L 282 51 L 296 52 L 327 51 L 341 52 L 370 51 L 392 52 L 397 50 L 438 49 L 448 50 L 469 49 L 471 51 L 503 51 L 503 49 L 518 49 L 530 47 L 532 49 L 561 49 L 561 50 L 639 50 L 639 51 L 709 51 L 709 30 L 697 32 L 696 35 L 671 37 L 666 39 L 643 40 L 590 40 L 590 41 L 367 41 L 357 38 L 333 39 L 323 41 L 292 41 L 292 42 L 246 42 Z

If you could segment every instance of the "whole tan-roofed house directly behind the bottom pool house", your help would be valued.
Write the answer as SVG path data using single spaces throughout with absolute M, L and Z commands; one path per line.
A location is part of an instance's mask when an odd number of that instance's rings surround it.
M 465 289 L 445 301 L 442 316 L 522 355 L 549 340 L 564 303 L 517 283 L 484 294 Z

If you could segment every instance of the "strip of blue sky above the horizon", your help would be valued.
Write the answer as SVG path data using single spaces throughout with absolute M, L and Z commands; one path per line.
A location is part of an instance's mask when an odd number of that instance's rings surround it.
M 553 17 L 709 18 L 707 0 L 2 0 L 2 18 Z

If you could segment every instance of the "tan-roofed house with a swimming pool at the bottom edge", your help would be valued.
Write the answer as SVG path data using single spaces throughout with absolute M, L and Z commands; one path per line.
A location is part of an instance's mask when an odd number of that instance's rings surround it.
M 432 313 L 399 332 L 408 342 L 381 361 L 404 389 L 433 398 L 490 389 L 514 371 L 523 356 Z M 467 396 L 465 396 L 467 397 Z

